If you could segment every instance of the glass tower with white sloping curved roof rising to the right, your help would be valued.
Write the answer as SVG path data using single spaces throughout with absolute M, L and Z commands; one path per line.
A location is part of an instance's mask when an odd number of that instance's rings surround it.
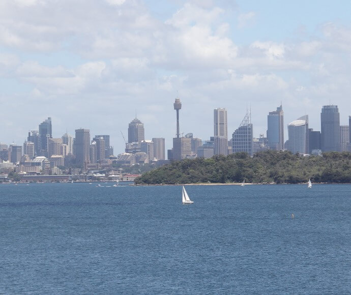
M 285 149 L 293 154 L 308 154 L 308 115 L 291 122 L 287 132 L 289 139 L 285 142 Z

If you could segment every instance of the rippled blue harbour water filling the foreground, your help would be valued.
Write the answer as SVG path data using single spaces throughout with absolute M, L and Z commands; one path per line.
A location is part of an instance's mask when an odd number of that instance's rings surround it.
M 0 293 L 350 293 L 351 185 L 186 188 L 0 185 Z

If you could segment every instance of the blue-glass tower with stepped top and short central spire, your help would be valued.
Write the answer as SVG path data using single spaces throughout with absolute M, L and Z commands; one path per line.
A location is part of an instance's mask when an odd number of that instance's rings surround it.
M 280 105 L 276 111 L 269 112 L 267 116 L 267 139 L 271 150 L 284 149 L 284 112 Z

